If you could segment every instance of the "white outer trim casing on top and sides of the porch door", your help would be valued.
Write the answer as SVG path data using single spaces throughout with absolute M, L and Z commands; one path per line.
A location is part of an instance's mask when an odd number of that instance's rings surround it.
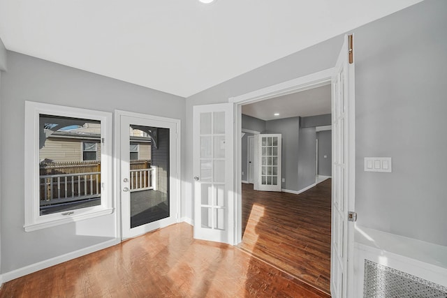
M 173 181 L 173 185 L 176 188 L 175 192 L 175 204 L 176 204 L 176 214 L 174 214 L 177 223 L 180 221 L 180 210 L 181 209 L 181 165 L 182 162 L 180 160 L 181 158 L 181 122 L 179 119 L 172 119 L 172 118 L 166 118 L 166 117 L 159 117 L 159 116 L 153 116 L 149 114 L 141 114 L 141 113 L 135 113 L 135 112 L 127 112 L 123 110 L 115 110 L 114 112 L 114 181 L 115 181 L 115 188 L 114 188 L 114 207 L 116 210 L 116 227 L 115 227 L 115 234 L 118 239 L 123 239 L 123 233 L 122 233 L 122 201 L 121 201 L 121 193 L 122 193 L 122 183 L 121 183 L 121 117 L 136 117 L 136 118 L 143 118 L 148 120 L 154 120 L 154 121 L 166 121 L 175 124 L 176 130 L 177 130 L 177 147 L 176 147 L 176 163 L 175 163 L 175 171 L 170 172 L 170 179 Z

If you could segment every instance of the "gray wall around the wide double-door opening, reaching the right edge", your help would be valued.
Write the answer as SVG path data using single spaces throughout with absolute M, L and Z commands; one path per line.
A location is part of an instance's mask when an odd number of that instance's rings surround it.
M 447 1 L 423 1 L 351 30 L 356 57 L 358 224 L 447 246 Z M 186 179 L 192 184 L 192 107 L 335 66 L 337 36 L 186 100 Z M 429 147 L 430 146 L 430 147 Z M 428 149 L 430 148 L 430 149 Z M 363 172 L 365 156 L 391 156 L 393 173 Z M 186 190 L 192 216 L 192 188 Z

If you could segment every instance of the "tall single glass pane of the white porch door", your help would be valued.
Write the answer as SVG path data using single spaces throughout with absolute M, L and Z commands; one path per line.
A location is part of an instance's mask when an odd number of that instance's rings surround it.
M 131 228 L 170 216 L 169 137 L 169 128 L 129 127 Z

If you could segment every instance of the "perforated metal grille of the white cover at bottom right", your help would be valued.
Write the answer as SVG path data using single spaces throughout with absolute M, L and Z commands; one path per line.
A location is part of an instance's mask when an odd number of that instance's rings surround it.
M 423 278 L 365 260 L 363 297 L 446 298 L 447 288 Z

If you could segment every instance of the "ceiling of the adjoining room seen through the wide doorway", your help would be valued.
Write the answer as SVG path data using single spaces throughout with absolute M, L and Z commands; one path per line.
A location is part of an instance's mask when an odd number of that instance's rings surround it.
M 330 114 L 330 84 L 294 94 L 242 105 L 242 114 L 265 121 Z M 278 113 L 278 116 L 274 116 Z

